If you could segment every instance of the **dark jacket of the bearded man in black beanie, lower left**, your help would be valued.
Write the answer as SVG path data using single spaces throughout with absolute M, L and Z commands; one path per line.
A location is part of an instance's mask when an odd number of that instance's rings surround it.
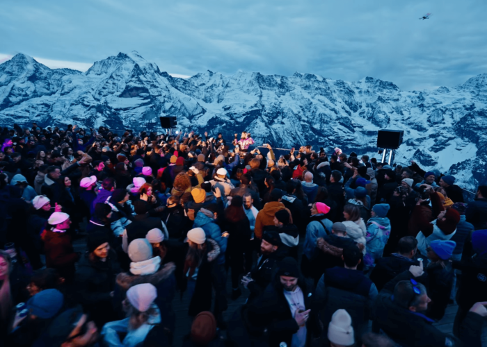
M 115 319 L 110 293 L 115 289 L 115 276 L 119 272 L 120 267 L 113 249 L 109 251 L 104 262 L 90 261 L 88 252 L 79 261 L 75 278 L 77 297 L 90 312 L 97 326 Z

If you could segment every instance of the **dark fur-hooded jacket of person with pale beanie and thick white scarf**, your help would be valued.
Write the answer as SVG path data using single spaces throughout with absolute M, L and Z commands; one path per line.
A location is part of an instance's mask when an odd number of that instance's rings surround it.
M 151 260 L 158 259 L 154 257 Z M 154 303 L 161 310 L 161 325 L 168 328 L 171 332 L 175 329 L 175 312 L 173 310 L 173 298 L 176 292 L 176 278 L 174 263 L 160 265 L 159 262 L 152 262 L 154 266 L 142 266 L 143 262 L 131 263 L 130 272 L 119 273 L 116 277 L 115 283 L 115 306 L 120 307 L 127 290 L 134 285 L 140 285 L 141 283 L 150 283 L 157 289 L 157 298 Z M 148 262 L 148 261 L 145 261 Z M 138 266 L 141 271 L 135 271 L 134 264 L 141 264 Z M 151 265 L 151 264 L 148 264 Z M 134 275 L 133 272 L 140 273 Z

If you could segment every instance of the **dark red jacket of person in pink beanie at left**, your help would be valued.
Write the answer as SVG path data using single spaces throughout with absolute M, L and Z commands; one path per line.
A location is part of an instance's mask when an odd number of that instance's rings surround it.
M 46 266 L 58 271 L 59 276 L 72 279 L 74 276 L 74 263 L 79 259 L 74 252 L 71 236 L 67 232 L 54 232 L 44 230 L 42 240 L 46 253 Z

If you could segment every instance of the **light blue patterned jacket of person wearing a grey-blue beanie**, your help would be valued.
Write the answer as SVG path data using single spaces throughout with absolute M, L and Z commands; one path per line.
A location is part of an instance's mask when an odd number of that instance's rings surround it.
M 390 221 L 387 217 L 372 217 L 367 221 L 367 253 L 364 257 L 366 266 L 373 266 L 374 262 L 384 251 L 390 235 Z

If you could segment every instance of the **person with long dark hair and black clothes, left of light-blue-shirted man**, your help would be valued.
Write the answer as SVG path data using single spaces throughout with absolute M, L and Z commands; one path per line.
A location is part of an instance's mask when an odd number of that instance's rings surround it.
M 241 196 L 234 196 L 232 204 L 225 209 L 223 232 L 228 232 L 227 266 L 232 269 L 232 300 L 241 295 L 239 276 L 244 272 L 244 253 L 250 251 L 250 221 L 243 208 Z

